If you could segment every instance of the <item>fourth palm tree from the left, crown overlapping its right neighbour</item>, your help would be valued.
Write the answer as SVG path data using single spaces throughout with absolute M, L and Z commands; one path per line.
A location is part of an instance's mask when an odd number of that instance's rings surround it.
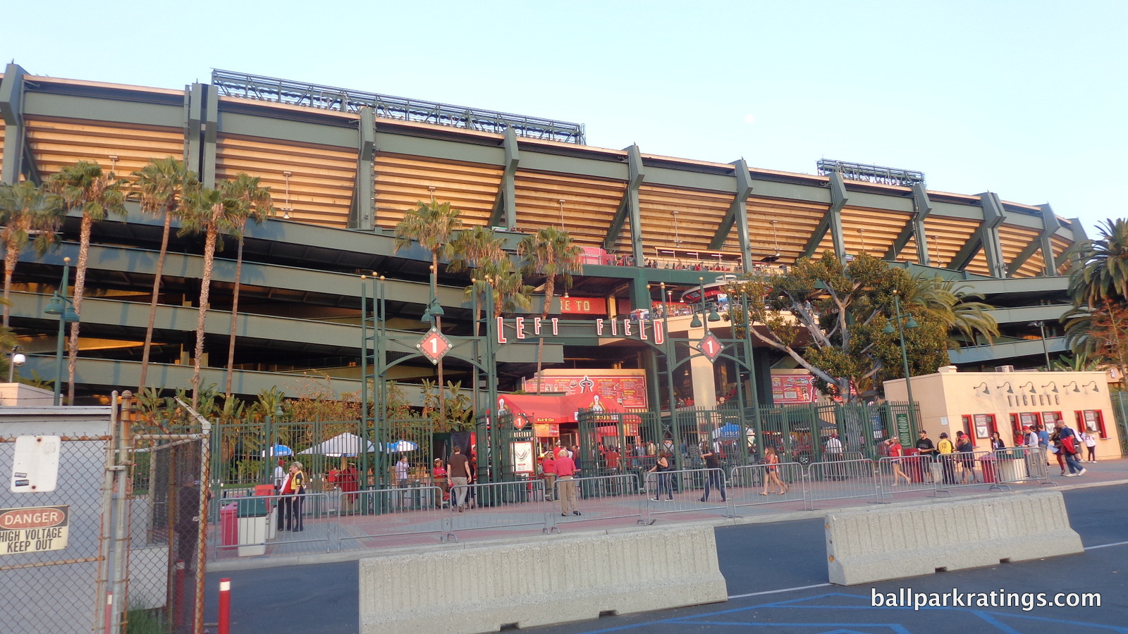
M 211 294 L 212 267 L 215 264 L 215 248 L 220 235 L 237 235 L 243 202 L 227 197 L 223 186 L 218 190 L 200 187 L 190 192 L 183 213 L 179 234 L 204 234 L 204 262 L 200 279 L 200 312 L 196 316 L 196 347 L 192 359 L 192 406 L 195 408 L 200 396 L 200 359 L 204 354 L 204 322 L 208 317 L 208 301 Z

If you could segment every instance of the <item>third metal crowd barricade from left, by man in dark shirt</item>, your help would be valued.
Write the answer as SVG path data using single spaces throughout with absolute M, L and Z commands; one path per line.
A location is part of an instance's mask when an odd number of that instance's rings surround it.
M 466 510 L 458 512 L 456 500 L 465 488 Z M 559 512 L 555 502 L 545 500 L 545 483 L 539 479 L 455 485 L 450 487 L 449 529 L 446 537 L 457 539 L 462 530 L 540 526 L 548 532 L 549 513 Z

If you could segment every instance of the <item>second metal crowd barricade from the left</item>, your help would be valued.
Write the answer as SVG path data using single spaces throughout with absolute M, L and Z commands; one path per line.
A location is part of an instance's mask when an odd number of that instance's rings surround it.
M 341 495 L 335 540 L 338 549 L 370 548 L 378 538 L 437 534 L 447 540 L 442 488 L 371 488 Z

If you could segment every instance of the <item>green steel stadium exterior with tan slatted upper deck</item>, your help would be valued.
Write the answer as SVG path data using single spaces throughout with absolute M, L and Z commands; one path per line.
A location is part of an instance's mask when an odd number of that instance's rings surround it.
M 183 156 L 205 185 L 243 171 L 272 187 L 282 213 L 246 234 L 238 394 L 275 386 L 293 394 L 312 377 L 332 378 L 336 393 L 358 391 L 362 275 L 387 280 L 387 327 L 426 329 L 420 318 L 429 303 L 430 253 L 397 252 L 393 228 L 432 196 L 460 209 L 466 227 L 495 228 L 510 247 L 546 226 L 563 226 L 585 247 L 590 258 L 570 293 L 593 301 L 571 302 L 569 310 L 554 301 L 562 320 L 650 308 L 662 299 L 661 283 L 680 296 L 702 278 L 787 266 L 827 250 L 866 252 L 966 280 L 997 307 L 1004 336 L 953 352 L 961 370 L 1038 368 L 1065 350 L 1057 336 L 1067 309 L 1063 254 L 1084 234 L 1047 204 L 932 191 L 922 175 L 904 170 L 881 175 L 839 164 L 818 175 L 783 173 L 744 160 L 647 155 L 637 146 L 590 147 L 582 126 L 562 122 L 223 71 L 211 81 L 142 88 L 32 76 L 8 64 L 0 80 L 0 178 L 39 182 L 83 159 L 127 175 L 150 159 Z M 76 375 L 85 397 L 134 389 L 139 380 L 161 221 L 127 206 L 124 221 L 94 229 Z M 41 258 L 27 250 L 16 271 L 11 325 L 29 354 L 23 375 L 54 378 L 58 319 L 44 308 L 63 257 L 77 258 L 77 236 L 72 213 L 61 248 Z M 229 240 L 215 264 L 204 385 L 223 384 L 233 247 Z M 190 384 L 201 252 L 200 238 L 173 238 L 150 386 Z M 694 268 L 675 267 L 686 265 Z M 468 279 L 440 272 L 448 333 L 469 333 Z M 576 303 L 587 308 L 572 309 Z M 633 343 L 576 331 L 549 341 L 544 358 L 549 367 L 656 368 L 653 354 Z M 535 345 L 502 347 L 501 389 L 519 387 L 536 354 Z M 761 377 L 778 361 L 757 350 Z M 417 381 L 433 378 L 434 369 L 420 360 L 389 376 Z M 447 380 L 468 385 L 469 377 L 467 364 L 447 369 Z M 758 391 L 769 397 L 763 386 Z

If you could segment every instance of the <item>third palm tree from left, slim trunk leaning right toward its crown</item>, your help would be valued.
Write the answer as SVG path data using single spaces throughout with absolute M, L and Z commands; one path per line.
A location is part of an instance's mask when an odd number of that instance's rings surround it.
M 141 211 L 164 218 L 164 230 L 160 235 L 160 255 L 157 256 L 157 270 L 152 280 L 152 296 L 149 299 L 149 324 L 144 331 L 144 347 L 141 350 L 141 378 L 138 380 L 138 391 L 146 387 L 149 373 L 149 353 L 152 347 L 152 329 L 157 318 L 157 301 L 160 297 L 161 274 L 165 270 L 165 256 L 168 254 L 168 236 L 173 227 L 173 217 L 179 215 L 184 205 L 184 194 L 197 187 L 200 182 L 194 171 L 190 171 L 184 161 L 167 157 L 149 161 L 149 165 L 134 171 L 138 191 L 141 194 Z

